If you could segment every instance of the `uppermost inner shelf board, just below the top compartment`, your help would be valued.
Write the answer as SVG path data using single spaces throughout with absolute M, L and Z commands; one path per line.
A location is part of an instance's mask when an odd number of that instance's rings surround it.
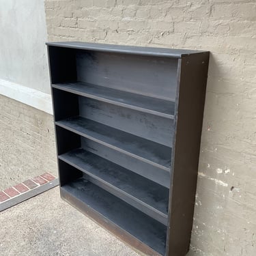
M 87 98 L 115 104 L 117 106 L 124 106 L 128 109 L 134 109 L 136 111 L 150 113 L 169 119 L 174 118 L 175 102 L 171 100 L 162 100 L 139 94 L 132 94 L 127 91 L 120 91 L 83 82 L 56 83 L 53 84 L 52 87 Z

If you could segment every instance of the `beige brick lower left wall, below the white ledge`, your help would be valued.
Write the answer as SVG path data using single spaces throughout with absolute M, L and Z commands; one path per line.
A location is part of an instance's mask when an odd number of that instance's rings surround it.
M 53 116 L 0 96 L 0 190 L 45 172 L 57 176 Z

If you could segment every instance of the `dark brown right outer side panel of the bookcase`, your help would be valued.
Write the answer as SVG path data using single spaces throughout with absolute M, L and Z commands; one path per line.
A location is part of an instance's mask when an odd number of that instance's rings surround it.
M 190 246 L 208 62 L 208 52 L 179 60 L 167 227 L 168 256 L 184 256 Z

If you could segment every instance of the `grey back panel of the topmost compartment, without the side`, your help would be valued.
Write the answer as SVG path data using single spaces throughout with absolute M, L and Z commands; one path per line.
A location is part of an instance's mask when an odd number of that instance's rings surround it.
M 76 53 L 77 80 L 166 100 L 175 100 L 177 59 Z

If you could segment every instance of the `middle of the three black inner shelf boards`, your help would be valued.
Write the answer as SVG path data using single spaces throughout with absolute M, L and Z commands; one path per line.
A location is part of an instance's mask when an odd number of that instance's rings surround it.
M 171 147 L 79 116 L 63 119 L 55 124 L 106 147 L 111 147 L 113 150 L 170 171 Z

